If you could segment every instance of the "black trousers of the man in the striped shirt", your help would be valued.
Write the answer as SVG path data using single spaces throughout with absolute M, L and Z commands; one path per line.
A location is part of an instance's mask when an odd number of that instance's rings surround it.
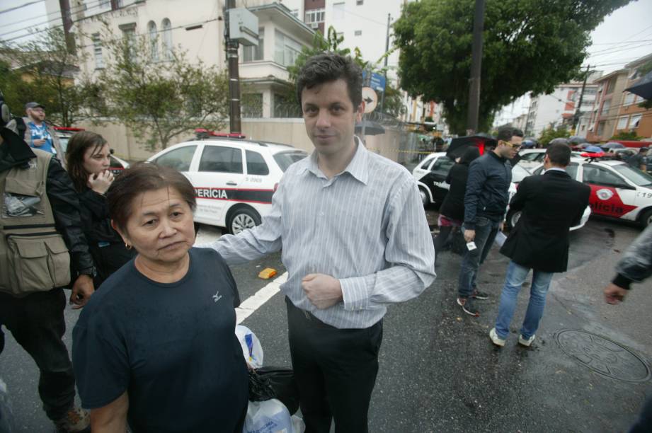
M 290 356 L 306 433 L 368 431 L 367 412 L 378 373 L 382 320 L 365 329 L 338 329 L 285 298 Z

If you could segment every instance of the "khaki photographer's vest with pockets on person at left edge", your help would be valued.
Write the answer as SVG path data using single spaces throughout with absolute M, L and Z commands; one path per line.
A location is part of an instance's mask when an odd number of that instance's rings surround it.
M 28 168 L 0 173 L 0 291 L 16 297 L 70 282 L 70 255 L 45 190 L 52 154 L 34 153 Z

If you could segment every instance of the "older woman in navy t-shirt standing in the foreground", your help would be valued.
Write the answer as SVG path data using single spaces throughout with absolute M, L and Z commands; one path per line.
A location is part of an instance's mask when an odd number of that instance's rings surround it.
M 239 295 L 214 250 L 191 248 L 195 194 L 170 168 L 136 164 L 108 191 L 134 260 L 91 296 L 73 365 L 93 432 L 241 432 L 247 369 L 234 333 Z

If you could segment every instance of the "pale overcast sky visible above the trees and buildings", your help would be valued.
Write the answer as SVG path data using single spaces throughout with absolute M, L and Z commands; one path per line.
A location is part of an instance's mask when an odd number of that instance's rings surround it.
M 15 11 L 6 11 L 16 6 L 30 4 Z M 43 28 L 47 23 L 61 23 L 61 16 L 47 16 L 44 1 L 1 0 L 0 1 L 0 39 L 28 35 L 30 30 Z M 24 41 L 25 38 L 16 40 Z M 593 45 L 589 47 L 589 57 L 584 65 L 599 69 L 605 74 L 624 67 L 625 64 L 652 53 L 652 1 L 632 1 L 605 18 L 591 33 Z M 512 120 L 527 110 L 527 98 L 505 107 L 496 117 L 496 124 Z

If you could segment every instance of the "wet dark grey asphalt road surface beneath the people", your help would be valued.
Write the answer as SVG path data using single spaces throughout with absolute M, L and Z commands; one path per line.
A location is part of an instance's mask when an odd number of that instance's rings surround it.
M 434 221 L 436 214 L 429 210 Z M 207 232 L 219 233 L 202 229 Z M 619 252 L 638 233 L 636 226 L 591 220 L 572 234 L 570 270 L 556 275 L 530 349 L 516 343 L 527 288 L 520 296 L 505 347 L 494 347 L 488 340 L 508 260 L 497 248 L 488 256 L 479 284 L 492 296 L 480 304 L 481 317 L 473 318 L 455 303 L 459 256 L 443 253 L 437 260 L 433 286 L 418 299 L 392 306 L 384 318 L 370 431 L 626 431 L 646 392 L 652 392 L 648 374 L 652 284 L 635 285 L 620 306 L 605 304 L 601 291 L 612 277 Z M 233 268 L 241 299 L 266 284 L 256 277 L 263 267 L 283 271 L 278 254 Z M 77 316 L 76 311 L 66 312 L 68 345 Z M 244 325 L 261 340 L 265 364 L 290 365 L 280 294 Z M 607 340 L 588 334 L 573 336 L 567 330 L 606 337 L 629 349 L 642 363 Z M 11 393 L 18 432 L 50 432 L 38 400 L 38 371 L 10 335 L 0 355 L 0 377 Z

